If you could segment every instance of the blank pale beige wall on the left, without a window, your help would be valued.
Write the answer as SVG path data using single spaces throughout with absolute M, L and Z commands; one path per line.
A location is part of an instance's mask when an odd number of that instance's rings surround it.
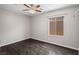
M 0 46 L 27 38 L 30 38 L 30 18 L 0 9 Z

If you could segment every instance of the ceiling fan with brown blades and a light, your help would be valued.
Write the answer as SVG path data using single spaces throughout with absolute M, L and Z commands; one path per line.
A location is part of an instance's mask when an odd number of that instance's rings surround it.
M 34 11 L 34 12 L 42 12 L 40 5 L 38 4 L 24 4 L 25 7 L 27 7 L 26 9 L 24 9 L 23 11 Z

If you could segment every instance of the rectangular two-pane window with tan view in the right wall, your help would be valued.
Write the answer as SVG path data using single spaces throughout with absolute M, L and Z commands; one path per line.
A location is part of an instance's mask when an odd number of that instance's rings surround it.
M 49 35 L 64 35 L 63 16 L 49 19 Z

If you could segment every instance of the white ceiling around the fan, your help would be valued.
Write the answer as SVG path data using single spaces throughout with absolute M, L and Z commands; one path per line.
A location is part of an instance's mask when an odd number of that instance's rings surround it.
M 45 13 L 48 11 L 53 11 L 60 8 L 66 8 L 71 6 L 76 6 L 77 4 L 40 4 L 41 8 L 43 9 L 41 13 Z M 23 4 L 0 4 L 0 8 L 4 8 L 7 10 L 11 10 L 14 12 L 26 14 L 28 16 L 38 15 L 41 13 L 29 13 L 22 11 L 23 9 L 26 9 L 26 7 Z

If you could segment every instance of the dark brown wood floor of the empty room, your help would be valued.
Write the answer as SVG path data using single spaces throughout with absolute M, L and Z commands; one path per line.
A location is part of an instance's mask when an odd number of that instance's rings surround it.
M 78 55 L 78 51 L 28 39 L 1 47 L 0 55 Z

